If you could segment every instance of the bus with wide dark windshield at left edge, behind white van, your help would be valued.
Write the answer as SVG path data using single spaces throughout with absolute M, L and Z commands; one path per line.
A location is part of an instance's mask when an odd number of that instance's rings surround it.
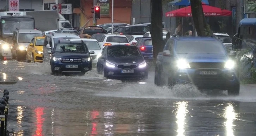
M 0 58 L 12 58 L 12 37 L 16 29 L 35 29 L 35 19 L 25 12 L 0 12 Z

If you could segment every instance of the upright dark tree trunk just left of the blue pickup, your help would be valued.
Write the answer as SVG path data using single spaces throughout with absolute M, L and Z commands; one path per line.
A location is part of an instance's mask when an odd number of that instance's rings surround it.
M 163 7 L 162 0 L 151 1 L 151 39 L 153 44 L 153 56 L 156 60 L 159 52 L 163 51 Z

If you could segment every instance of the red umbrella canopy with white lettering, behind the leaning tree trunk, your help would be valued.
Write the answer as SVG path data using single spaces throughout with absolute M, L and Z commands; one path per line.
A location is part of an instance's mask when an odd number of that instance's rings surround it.
M 230 16 L 232 15 L 231 11 L 226 9 L 220 9 L 213 6 L 202 5 L 203 13 L 205 16 Z M 191 6 L 180 8 L 174 11 L 169 11 L 165 13 L 165 17 L 192 17 Z

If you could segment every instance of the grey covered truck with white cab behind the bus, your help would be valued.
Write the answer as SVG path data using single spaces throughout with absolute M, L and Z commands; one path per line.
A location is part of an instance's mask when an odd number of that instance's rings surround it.
M 36 28 L 39 28 L 42 32 L 60 28 L 73 29 L 71 23 L 56 10 L 26 11 L 26 15 L 35 18 Z

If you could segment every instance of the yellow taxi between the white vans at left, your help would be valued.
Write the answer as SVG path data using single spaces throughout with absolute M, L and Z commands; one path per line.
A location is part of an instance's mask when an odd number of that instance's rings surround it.
M 45 37 L 34 37 L 27 48 L 27 62 L 43 62 L 43 43 Z

